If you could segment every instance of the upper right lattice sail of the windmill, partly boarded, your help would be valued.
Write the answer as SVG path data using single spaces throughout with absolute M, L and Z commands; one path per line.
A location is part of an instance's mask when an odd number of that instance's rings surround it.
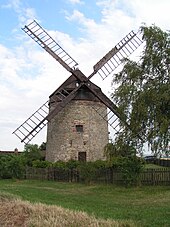
M 131 31 L 93 66 L 94 71 L 88 78 L 90 79 L 98 73 L 104 80 L 122 63 L 124 58 L 129 57 L 142 43 L 139 32 Z

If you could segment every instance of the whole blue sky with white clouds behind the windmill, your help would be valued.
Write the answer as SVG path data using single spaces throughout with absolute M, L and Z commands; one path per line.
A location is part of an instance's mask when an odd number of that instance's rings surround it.
M 170 29 L 169 0 L 0 0 L 0 150 L 24 149 L 12 134 L 69 76 L 21 28 L 36 20 L 86 75 L 143 23 Z M 92 78 L 109 96 L 113 75 Z M 46 141 L 46 128 L 32 143 Z

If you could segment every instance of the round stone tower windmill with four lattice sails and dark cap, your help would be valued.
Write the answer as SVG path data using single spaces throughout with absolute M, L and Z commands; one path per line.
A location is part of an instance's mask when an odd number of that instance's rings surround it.
M 86 77 L 77 62 L 34 20 L 23 31 L 58 61 L 71 76 L 13 133 L 28 144 L 47 125 L 46 159 L 103 159 L 108 143 L 108 125 L 114 133 L 129 127 L 119 108 L 91 82 L 103 80 L 141 44 L 139 33 L 131 31 L 93 67 Z

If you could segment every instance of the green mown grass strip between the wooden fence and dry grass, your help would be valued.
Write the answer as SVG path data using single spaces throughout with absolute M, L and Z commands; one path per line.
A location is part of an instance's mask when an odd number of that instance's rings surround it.
M 52 181 L 0 180 L 0 192 L 23 200 L 85 211 L 97 218 L 170 226 L 170 187 L 123 188 Z

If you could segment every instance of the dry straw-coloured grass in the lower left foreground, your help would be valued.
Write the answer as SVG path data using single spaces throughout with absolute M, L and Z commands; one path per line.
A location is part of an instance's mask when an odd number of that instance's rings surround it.
M 85 212 L 58 206 L 32 204 L 7 194 L 0 194 L 0 226 L 3 227 L 134 227 L 131 221 L 96 219 Z

